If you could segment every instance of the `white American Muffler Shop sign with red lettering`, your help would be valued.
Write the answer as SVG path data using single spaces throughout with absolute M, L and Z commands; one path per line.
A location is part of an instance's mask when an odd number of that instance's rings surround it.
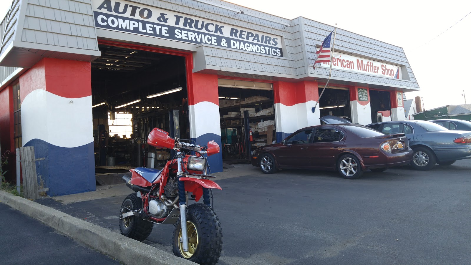
M 321 66 L 330 67 L 330 63 L 322 63 Z M 402 73 L 399 66 L 393 66 L 335 51 L 333 52 L 332 69 L 402 79 Z

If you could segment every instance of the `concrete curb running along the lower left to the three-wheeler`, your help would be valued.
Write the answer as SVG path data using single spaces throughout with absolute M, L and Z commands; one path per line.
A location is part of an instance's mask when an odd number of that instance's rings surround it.
M 111 232 L 106 228 L 90 224 L 87 221 L 80 220 L 31 200 L 14 196 L 5 191 L 0 191 L 0 202 L 41 221 L 41 223 L 49 225 L 81 244 L 105 253 L 124 264 L 196 264 L 137 240 L 127 238 L 122 234 Z

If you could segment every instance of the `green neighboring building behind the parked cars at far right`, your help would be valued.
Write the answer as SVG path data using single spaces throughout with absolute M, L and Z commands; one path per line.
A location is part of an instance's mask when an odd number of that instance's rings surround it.
M 457 119 L 471 120 L 471 104 L 447 105 L 413 114 L 414 120 Z

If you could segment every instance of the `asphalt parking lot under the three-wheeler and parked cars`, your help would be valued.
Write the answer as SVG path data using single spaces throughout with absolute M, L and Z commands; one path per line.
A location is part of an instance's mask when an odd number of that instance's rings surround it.
M 219 264 L 471 264 L 471 160 L 430 171 L 410 166 L 365 172 L 284 170 L 216 180 L 223 229 Z M 129 190 L 131 193 L 131 190 Z M 38 202 L 119 232 L 126 195 L 63 204 Z M 171 253 L 172 225 L 145 243 Z

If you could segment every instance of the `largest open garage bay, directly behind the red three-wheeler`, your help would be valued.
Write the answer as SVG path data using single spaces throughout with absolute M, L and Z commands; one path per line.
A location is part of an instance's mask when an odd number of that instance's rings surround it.
M 187 77 L 183 56 L 103 42 L 99 49 L 91 63 L 95 172 L 97 183 L 111 184 L 171 159 L 171 150 L 147 145 L 154 127 L 190 138 Z

